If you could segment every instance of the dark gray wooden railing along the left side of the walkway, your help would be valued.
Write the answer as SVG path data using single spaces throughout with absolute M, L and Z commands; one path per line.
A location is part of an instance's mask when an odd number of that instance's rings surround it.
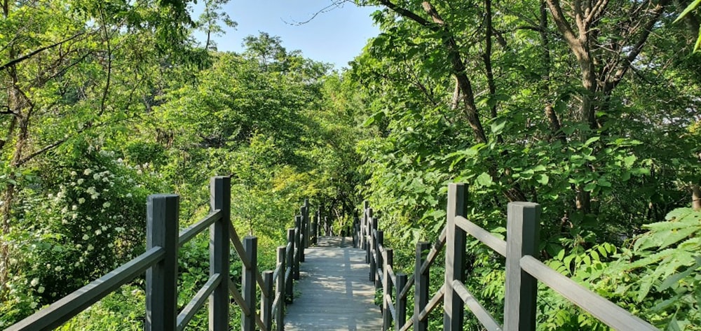
M 242 311 L 241 330 L 284 330 L 285 304 L 294 300 L 293 279 L 299 279 L 299 262 L 308 246 L 309 205 L 305 200 L 294 229 L 287 230 L 287 245 L 277 248 L 274 270 L 262 274 L 257 267 L 257 237 L 240 240 L 231 224 L 231 178 L 210 181 L 210 213 L 179 231 L 179 196 L 150 195 L 147 201 L 147 248 L 137 258 L 112 270 L 74 293 L 37 311 L 6 331 L 53 330 L 114 290 L 146 273 L 147 331 L 181 331 L 209 300 L 209 330 L 228 331 L 231 297 Z M 192 300 L 177 309 L 177 255 L 179 248 L 210 229 L 210 278 Z M 229 277 L 229 244 L 243 263 L 241 290 Z M 261 290 L 257 307 L 257 288 Z M 258 313 L 260 310 L 260 314 Z M 273 322 L 275 322 L 273 329 Z

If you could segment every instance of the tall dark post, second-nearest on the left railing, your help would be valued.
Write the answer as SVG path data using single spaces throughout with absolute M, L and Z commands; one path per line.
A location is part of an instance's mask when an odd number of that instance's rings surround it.
M 229 330 L 229 222 L 231 222 L 231 178 L 212 177 L 210 209 L 222 211 L 222 219 L 210 226 L 210 276 L 222 281 L 210 295 L 210 331 Z

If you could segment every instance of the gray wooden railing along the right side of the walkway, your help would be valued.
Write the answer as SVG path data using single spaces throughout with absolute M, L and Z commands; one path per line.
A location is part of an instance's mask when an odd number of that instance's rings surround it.
M 414 273 L 396 273 L 393 270 L 393 251 L 383 243 L 383 232 L 378 230 L 378 218 L 364 203 L 362 217 L 353 227 L 356 247 L 366 251 L 370 264 L 370 281 L 382 288 L 383 330 L 428 330 L 428 314 L 443 304 L 443 330 L 463 330 L 465 306 L 477 321 L 489 331 L 536 330 L 536 295 L 538 281 L 552 288 L 567 300 L 592 314 L 614 330 L 658 330 L 618 307 L 613 302 L 593 293 L 540 262 L 538 233 L 540 205 L 531 202 L 512 202 L 508 205 L 507 241 L 495 237 L 467 219 L 467 187 L 449 184 L 447 225 L 435 244 L 416 244 Z M 470 234 L 506 258 L 504 323 L 496 321 L 465 287 L 465 241 Z M 430 297 L 430 267 L 445 248 L 444 281 L 440 290 Z M 428 251 L 426 257 L 423 253 Z M 414 315 L 407 321 L 407 293 L 414 287 Z

